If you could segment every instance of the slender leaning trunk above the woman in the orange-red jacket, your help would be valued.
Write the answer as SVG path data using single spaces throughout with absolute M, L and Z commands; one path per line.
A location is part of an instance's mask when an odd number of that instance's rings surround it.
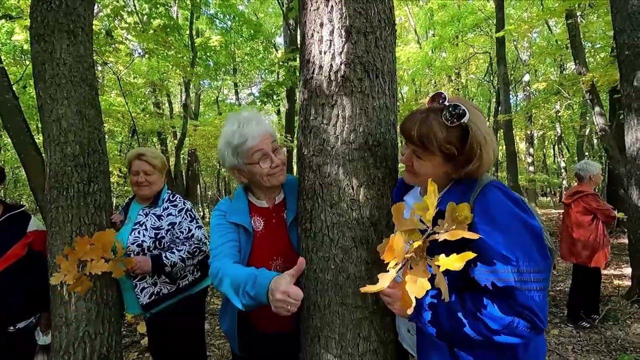
M 574 7 L 569 7 L 565 10 L 564 20 L 569 34 L 569 45 L 571 47 L 573 63 L 575 64 L 575 72 L 581 78 L 587 77 L 589 76 L 589 65 L 584 52 L 584 44 L 582 44 L 582 35 L 580 35 L 578 15 Z M 584 97 L 589 102 L 591 111 L 593 111 L 593 122 L 595 122 L 600 141 L 605 151 L 607 151 L 609 159 L 611 159 L 611 163 L 614 168 L 616 168 L 616 171 L 622 172 L 624 159 L 620 151 L 618 151 L 615 139 L 609 131 L 609 122 L 607 121 L 607 115 L 604 113 L 604 106 L 602 106 L 602 99 L 600 98 L 600 92 L 598 92 L 595 80 L 593 78 L 586 78 L 580 81 L 580 83 L 582 83 Z

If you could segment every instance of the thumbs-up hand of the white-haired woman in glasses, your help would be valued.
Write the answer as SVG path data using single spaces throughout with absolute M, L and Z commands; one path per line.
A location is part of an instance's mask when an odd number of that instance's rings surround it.
M 274 313 L 289 316 L 300 307 L 303 293 L 296 281 L 305 270 L 305 258 L 298 258 L 298 263 L 291 270 L 276 276 L 269 284 L 269 304 Z

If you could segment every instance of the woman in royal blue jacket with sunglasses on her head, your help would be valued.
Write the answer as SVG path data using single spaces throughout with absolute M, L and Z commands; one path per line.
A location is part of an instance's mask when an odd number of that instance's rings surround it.
M 469 202 L 478 182 L 486 181 L 495 137 L 471 102 L 436 92 L 426 108 L 404 119 L 400 131 L 405 170 L 395 202 L 411 208 L 433 179 L 440 190 L 437 222 L 449 202 Z M 409 316 L 417 325 L 418 359 L 543 360 L 552 269 L 545 231 L 525 200 L 493 179 L 477 193 L 472 213 L 470 231 L 481 238 L 429 245 L 432 256 L 477 256 L 460 272 L 445 273 L 449 302 L 433 286 Z M 396 315 L 407 316 L 397 282 L 380 295 Z

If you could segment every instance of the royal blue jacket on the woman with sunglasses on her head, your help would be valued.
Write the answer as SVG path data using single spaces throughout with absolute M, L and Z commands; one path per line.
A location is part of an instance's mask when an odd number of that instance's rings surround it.
M 438 200 L 434 221 L 444 218 L 449 202 L 468 202 L 476 183 L 454 181 Z M 394 202 L 412 188 L 400 179 Z M 500 181 L 482 188 L 472 211 L 470 231 L 481 238 L 429 245 L 431 256 L 477 256 L 459 272 L 445 270 L 449 302 L 435 287 L 418 300 L 410 316 L 417 324 L 418 359 L 544 360 L 552 258 L 543 229 L 524 200 Z

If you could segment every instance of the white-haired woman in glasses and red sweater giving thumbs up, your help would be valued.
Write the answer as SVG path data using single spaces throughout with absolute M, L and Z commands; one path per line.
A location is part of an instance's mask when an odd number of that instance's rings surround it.
M 239 184 L 211 215 L 211 281 L 233 359 L 298 359 L 298 180 L 286 149 L 257 111 L 232 113 L 218 156 Z

